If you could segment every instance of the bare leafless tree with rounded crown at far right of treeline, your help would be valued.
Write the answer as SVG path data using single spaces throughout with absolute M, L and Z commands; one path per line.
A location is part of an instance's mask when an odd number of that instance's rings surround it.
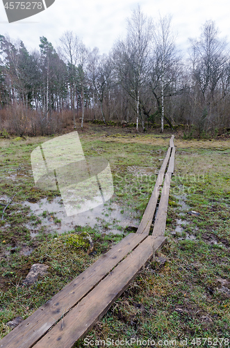
M 202 26 L 202 34 L 197 39 L 190 39 L 190 61 L 192 63 L 192 80 L 194 88 L 198 87 L 199 94 L 195 97 L 195 104 L 199 104 L 199 129 L 204 128 L 204 123 L 211 122 L 216 113 L 215 106 L 219 96 L 220 85 L 227 72 L 228 54 L 227 42 L 221 40 L 215 22 L 209 20 Z M 223 85 L 222 85 L 223 86 Z M 216 116 L 216 115 L 215 115 Z

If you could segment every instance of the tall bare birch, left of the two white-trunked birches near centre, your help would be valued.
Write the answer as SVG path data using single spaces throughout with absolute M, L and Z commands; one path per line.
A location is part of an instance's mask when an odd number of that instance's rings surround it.
M 149 51 L 153 25 L 140 6 L 127 19 L 127 35 L 114 47 L 117 74 L 123 88 L 135 101 L 136 129 L 140 118 L 140 89 L 149 75 Z M 142 123 L 145 128 L 144 122 Z

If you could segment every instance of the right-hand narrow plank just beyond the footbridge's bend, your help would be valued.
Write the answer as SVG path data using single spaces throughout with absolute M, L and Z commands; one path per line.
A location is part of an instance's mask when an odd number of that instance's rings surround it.
M 156 220 L 154 223 L 154 230 L 152 235 L 161 236 L 165 234 L 165 226 L 167 219 L 167 205 L 170 195 L 170 181 L 172 173 L 166 173 L 163 190 L 161 192 L 161 200 L 156 213 Z

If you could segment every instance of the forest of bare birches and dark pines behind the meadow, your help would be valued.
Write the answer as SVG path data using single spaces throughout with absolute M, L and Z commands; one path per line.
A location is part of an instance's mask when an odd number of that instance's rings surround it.
M 66 31 L 54 48 L 40 37 L 30 52 L 0 35 L 0 132 L 49 135 L 80 122 L 189 129 L 199 136 L 230 128 L 230 57 L 215 22 L 206 21 L 188 54 L 176 47 L 172 17 L 140 7 L 109 54 Z

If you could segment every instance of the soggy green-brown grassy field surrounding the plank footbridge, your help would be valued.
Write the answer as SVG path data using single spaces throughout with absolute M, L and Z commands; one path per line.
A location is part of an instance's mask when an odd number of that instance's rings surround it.
M 101 155 L 110 162 L 115 193 L 97 226 L 73 226 L 64 235 L 58 235 L 62 221 L 55 212 L 35 214 L 25 204 L 60 198 L 58 191 L 35 187 L 31 171 L 31 151 L 51 137 L 0 139 L 0 203 L 6 204 L 15 195 L 4 214 L 0 205 L 1 337 L 10 332 L 8 321 L 31 315 L 124 235 L 135 232 L 124 228 L 121 219 L 110 221 L 110 214 L 116 206 L 119 216 L 140 221 L 170 139 L 167 134 L 99 127 L 89 127 L 79 136 L 85 155 Z M 76 347 L 104 347 L 107 338 L 117 340 L 117 347 L 125 339 L 128 343 L 132 339 L 131 347 L 140 346 L 137 340 L 145 343 L 148 339 L 152 340 L 149 347 L 169 346 L 170 340 L 171 347 L 183 343 L 195 347 L 199 338 L 204 338 L 202 347 L 219 347 L 215 338 L 225 339 L 223 347 L 230 342 L 230 141 L 183 141 L 176 136 L 174 143 L 167 244 L 157 255 L 166 262 L 149 262 L 87 340 L 80 340 Z M 188 214 L 191 210 L 199 215 Z M 109 233 L 114 229 L 119 233 Z M 89 255 L 87 248 L 76 248 L 72 242 L 73 235 L 81 232 L 90 234 L 95 244 Z M 24 286 L 22 280 L 34 263 L 47 264 L 48 274 Z

